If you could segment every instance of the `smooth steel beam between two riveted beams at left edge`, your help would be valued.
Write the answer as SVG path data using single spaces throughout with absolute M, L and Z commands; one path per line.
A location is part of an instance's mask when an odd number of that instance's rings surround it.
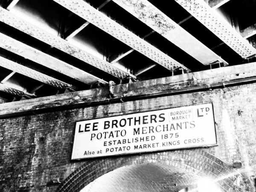
M 8 51 L 11 51 L 17 55 L 20 55 L 24 58 L 27 58 L 31 61 L 34 61 L 38 64 L 44 65 L 45 67 L 48 67 L 52 70 L 58 71 L 59 73 L 67 75 L 83 83 L 93 84 L 97 81 L 100 81 L 103 84 L 108 84 L 108 82 L 103 81 L 98 77 L 91 75 L 90 73 L 86 73 L 83 70 L 73 67 L 70 64 L 60 61 L 50 55 L 47 55 L 37 49 L 29 47 L 28 45 L 23 44 L 20 41 L 12 39 L 1 33 L 0 33 L 0 47 Z

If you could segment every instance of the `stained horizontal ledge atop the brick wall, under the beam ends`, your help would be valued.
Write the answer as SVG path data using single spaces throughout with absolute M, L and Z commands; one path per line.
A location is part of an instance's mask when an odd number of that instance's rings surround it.
M 3 103 L 0 104 L 0 118 L 92 105 L 108 105 L 116 102 L 146 99 L 168 94 L 197 92 L 209 90 L 210 88 L 224 88 L 225 85 L 234 86 L 252 82 L 256 82 L 256 62 L 116 85 L 113 87 L 113 99 L 110 99 L 109 88 L 104 87 Z

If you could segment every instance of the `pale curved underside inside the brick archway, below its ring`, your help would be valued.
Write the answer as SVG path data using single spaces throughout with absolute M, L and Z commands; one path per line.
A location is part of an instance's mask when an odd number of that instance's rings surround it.
M 170 192 L 195 185 L 198 175 L 161 163 L 123 166 L 97 178 L 81 192 Z

